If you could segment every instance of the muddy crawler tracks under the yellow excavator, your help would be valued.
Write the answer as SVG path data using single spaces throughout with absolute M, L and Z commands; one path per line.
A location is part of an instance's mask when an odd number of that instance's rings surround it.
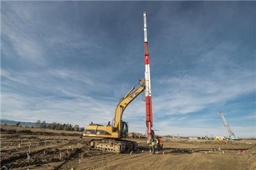
M 128 141 L 124 139 L 92 139 L 90 146 L 97 150 L 112 153 L 125 153 L 138 149 L 138 144 L 135 141 Z

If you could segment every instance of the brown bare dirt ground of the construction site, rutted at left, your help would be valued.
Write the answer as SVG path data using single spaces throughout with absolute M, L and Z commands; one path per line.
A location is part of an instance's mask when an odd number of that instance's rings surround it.
M 1 133 L 1 169 L 256 169 L 256 141 L 171 139 L 152 154 L 89 149 L 89 138 Z M 243 152 L 238 152 L 242 149 Z

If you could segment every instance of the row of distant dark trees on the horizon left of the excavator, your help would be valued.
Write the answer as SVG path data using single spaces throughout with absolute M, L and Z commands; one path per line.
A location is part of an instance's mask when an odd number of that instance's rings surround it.
M 84 128 L 79 128 L 79 125 L 73 126 L 72 124 L 60 124 L 56 122 L 53 122 L 52 124 L 47 124 L 45 120 L 42 122 L 40 120 L 37 120 L 36 127 L 61 131 L 84 131 Z

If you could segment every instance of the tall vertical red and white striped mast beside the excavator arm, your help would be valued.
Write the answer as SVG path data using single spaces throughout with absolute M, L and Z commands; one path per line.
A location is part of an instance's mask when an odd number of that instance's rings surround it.
M 147 125 L 147 138 L 154 138 L 152 132 L 153 115 L 152 115 L 152 100 L 151 100 L 151 85 L 150 85 L 150 67 L 149 67 L 149 54 L 148 54 L 148 39 L 147 39 L 147 13 L 143 12 L 144 18 L 144 46 L 145 46 L 145 97 L 146 97 L 146 125 Z M 149 141 L 149 140 L 148 140 Z

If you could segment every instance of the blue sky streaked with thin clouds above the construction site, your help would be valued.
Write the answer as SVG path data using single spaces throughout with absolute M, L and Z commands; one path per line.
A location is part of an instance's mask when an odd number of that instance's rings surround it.
M 256 137 L 255 1 L 1 2 L 1 118 L 107 124 L 144 76 L 157 134 Z M 145 101 L 125 110 L 145 132 Z

